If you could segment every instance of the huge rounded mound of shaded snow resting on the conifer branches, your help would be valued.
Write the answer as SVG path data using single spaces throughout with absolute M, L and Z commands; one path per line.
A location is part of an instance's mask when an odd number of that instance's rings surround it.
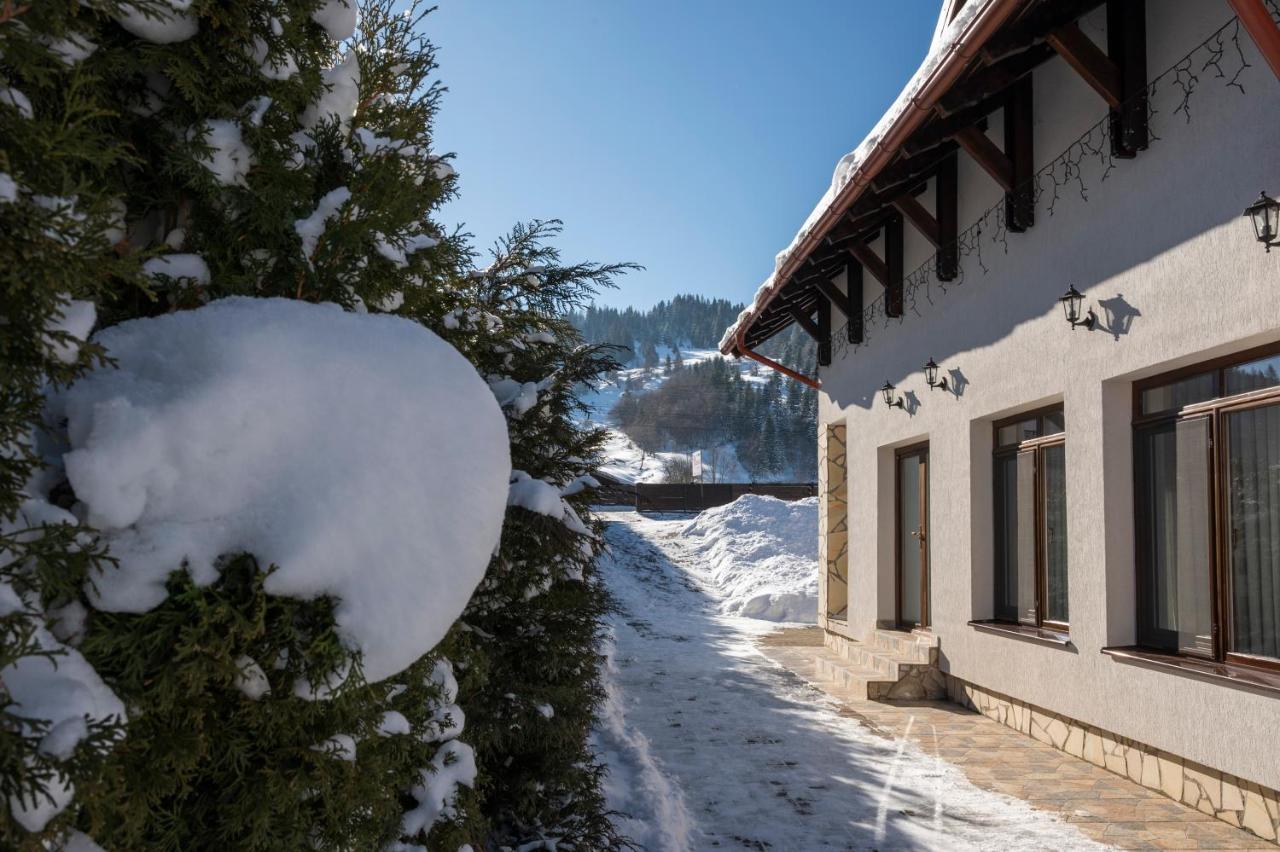
M 229 298 L 95 336 L 118 368 L 51 402 L 67 476 L 119 571 L 93 604 L 146 611 L 252 553 L 275 595 L 339 600 L 380 681 L 434 647 L 502 532 L 507 423 L 475 368 L 408 320 Z

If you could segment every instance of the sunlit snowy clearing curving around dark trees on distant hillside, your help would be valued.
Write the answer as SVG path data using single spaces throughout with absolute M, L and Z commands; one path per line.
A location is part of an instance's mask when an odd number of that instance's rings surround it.
M 657 347 L 657 349 L 659 363 L 666 363 L 667 356 L 675 357 L 675 351 L 668 347 Z M 710 361 L 712 358 L 721 357 L 718 349 L 681 348 L 680 354 L 685 366 L 692 366 L 695 363 L 701 363 L 703 361 Z M 730 361 L 730 363 L 732 365 L 735 362 Z M 740 359 L 736 363 L 737 368 L 742 374 L 742 379 L 746 381 L 768 381 L 768 376 L 763 375 L 759 368 L 756 368 L 754 374 L 751 372 L 751 367 L 754 365 L 753 361 Z M 605 476 L 611 476 L 620 482 L 627 484 L 662 482 L 663 459 L 676 455 L 687 455 L 687 453 L 645 453 L 613 425 L 609 418 L 609 411 L 622 397 L 622 391 L 626 389 L 628 379 L 632 380 L 637 391 L 648 393 L 660 388 L 662 383 L 667 380 L 667 376 L 663 375 L 660 367 L 658 370 L 628 367 L 626 370 L 620 370 L 614 381 L 602 383 L 595 388 L 584 390 L 581 394 L 582 403 L 590 409 L 588 416 L 589 421 L 605 427 L 609 432 L 608 441 L 604 446 L 604 463 L 600 464 L 599 472 Z M 712 472 L 708 472 L 707 476 L 708 481 L 712 481 Z M 742 466 L 737 462 L 737 455 L 733 452 L 732 445 L 722 448 L 718 469 L 714 471 L 714 481 L 748 482 L 749 480 L 750 477 L 746 471 L 742 469 Z

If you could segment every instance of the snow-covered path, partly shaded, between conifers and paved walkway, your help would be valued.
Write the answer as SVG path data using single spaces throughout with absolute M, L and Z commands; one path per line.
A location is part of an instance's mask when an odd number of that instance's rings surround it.
M 1075 828 L 887 741 L 765 659 L 724 614 L 685 519 L 609 513 L 618 600 L 595 745 L 641 848 L 1091 849 Z

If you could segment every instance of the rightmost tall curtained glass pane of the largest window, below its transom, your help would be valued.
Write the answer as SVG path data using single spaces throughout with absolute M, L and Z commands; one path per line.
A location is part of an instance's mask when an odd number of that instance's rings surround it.
M 1231 650 L 1280 658 L 1280 406 L 1226 416 Z

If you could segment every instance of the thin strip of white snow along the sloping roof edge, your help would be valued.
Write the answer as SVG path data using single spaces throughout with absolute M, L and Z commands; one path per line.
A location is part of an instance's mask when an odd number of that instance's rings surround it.
M 872 128 L 870 133 L 867 134 L 856 148 L 840 157 L 840 161 L 836 162 L 836 170 L 831 175 L 831 185 L 828 185 L 827 191 L 822 193 L 822 198 L 818 200 L 818 203 L 805 217 L 804 224 L 800 225 L 800 230 L 796 232 L 791 243 L 773 258 L 773 272 L 771 272 L 760 287 L 756 288 L 755 296 L 751 298 L 751 303 L 737 315 L 733 325 L 724 330 L 724 335 L 719 342 L 721 351 L 728 348 L 733 336 L 737 334 L 739 327 L 750 319 L 753 312 L 764 308 L 765 303 L 768 303 L 771 296 L 773 294 L 773 288 L 781 284 L 781 281 L 778 281 L 778 272 L 782 270 L 782 266 L 787 262 L 787 260 L 790 260 L 791 253 L 797 246 L 800 246 L 801 242 L 804 242 L 804 239 L 809 235 L 809 232 L 813 230 L 814 225 L 818 224 L 827 210 L 836 202 L 841 191 L 844 191 L 844 188 L 849 184 L 849 180 L 858 173 L 859 168 L 861 168 L 863 162 L 876 146 L 879 145 L 881 139 L 888 134 L 890 129 L 897 124 L 914 105 L 915 97 L 920 93 L 924 83 L 933 75 L 943 60 L 946 60 L 947 56 L 950 56 L 956 49 L 956 42 L 959 41 L 960 35 L 969 28 L 978 14 L 986 9 L 991 1 L 992 0 L 969 0 L 960 8 L 960 12 L 956 13 L 955 18 L 952 18 L 951 22 L 943 27 L 942 22 L 945 17 L 951 13 L 951 9 L 956 4 L 956 0 L 943 0 L 942 10 L 938 18 L 938 28 L 934 32 L 929 52 L 924 56 L 924 60 L 915 70 L 915 74 L 911 75 L 911 79 L 908 81 L 906 86 L 899 93 L 897 100 L 890 105 L 890 107 L 881 116 L 879 122 L 876 123 L 876 127 Z

